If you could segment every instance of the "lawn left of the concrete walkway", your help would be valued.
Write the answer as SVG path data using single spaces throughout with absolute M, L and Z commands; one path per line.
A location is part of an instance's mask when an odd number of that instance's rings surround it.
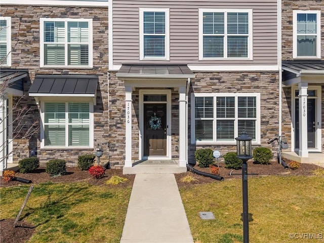
M 16 218 L 28 189 L 0 189 L 1 219 Z M 20 217 L 36 226 L 29 243 L 119 242 L 131 189 L 88 183 L 35 185 Z

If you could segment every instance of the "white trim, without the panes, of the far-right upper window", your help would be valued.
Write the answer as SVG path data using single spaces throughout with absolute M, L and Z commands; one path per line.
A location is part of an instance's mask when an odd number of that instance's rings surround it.
M 316 14 L 316 56 L 297 56 L 297 14 Z M 309 59 L 320 58 L 321 33 L 320 33 L 320 11 L 315 10 L 293 10 L 293 58 Z

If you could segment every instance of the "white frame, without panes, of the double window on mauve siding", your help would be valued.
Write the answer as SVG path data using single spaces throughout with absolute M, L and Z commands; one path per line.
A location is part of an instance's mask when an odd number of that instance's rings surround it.
M 224 33 L 204 34 L 204 13 L 223 13 L 224 14 Z M 228 13 L 248 13 L 248 34 L 230 34 L 227 32 L 227 14 Z M 253 59 L 253 10 L 252 9 L 199 9 L 199 60 L 252 60 Z M 204 57 L 204 36 L 223 36 L 223 56 L 222 57 Z M 227 39 L 229 36 L 247 36 L 247 57 L 228 57 Z

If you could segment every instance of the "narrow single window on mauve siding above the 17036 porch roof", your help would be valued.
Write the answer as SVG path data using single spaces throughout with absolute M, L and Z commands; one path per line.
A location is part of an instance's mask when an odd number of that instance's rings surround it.
M 169 60 L 169 9 L 140 9 L 140 60 Z

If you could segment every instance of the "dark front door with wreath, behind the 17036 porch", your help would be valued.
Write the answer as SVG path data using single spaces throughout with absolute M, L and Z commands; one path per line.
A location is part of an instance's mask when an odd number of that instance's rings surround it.
M 167 104 L 144 103 L 144 156 L 167 155 Z

